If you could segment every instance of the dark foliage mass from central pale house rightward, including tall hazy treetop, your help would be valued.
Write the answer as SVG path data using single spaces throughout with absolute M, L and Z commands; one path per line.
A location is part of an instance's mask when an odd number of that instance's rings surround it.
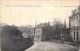
M 61 23 L 61 21 L 57 20 L 53 26 L 46 26 L 43 28 L 44 36 L 46 38 L 53 37 L 53 38 L 59 38 L 60 34 L 63 33 L 64 30 L 64 24 Z M 60 38 L 59 38 L 60 39 Z

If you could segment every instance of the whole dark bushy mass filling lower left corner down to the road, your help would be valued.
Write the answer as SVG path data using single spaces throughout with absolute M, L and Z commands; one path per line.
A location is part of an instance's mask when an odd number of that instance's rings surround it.
M 23 51 L 33 45 L 31 39 L 24 39 L 22 32 L 15 26 L 4 26 L 1 29 L 2 51 Z

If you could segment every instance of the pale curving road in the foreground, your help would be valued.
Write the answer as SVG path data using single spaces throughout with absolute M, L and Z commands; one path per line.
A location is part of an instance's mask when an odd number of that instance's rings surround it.
M 26 49 L 25 51 L 78 51 L 78 48 L 67 44 L 48 41 L 34 43 L 35 44 L 32 47 Z

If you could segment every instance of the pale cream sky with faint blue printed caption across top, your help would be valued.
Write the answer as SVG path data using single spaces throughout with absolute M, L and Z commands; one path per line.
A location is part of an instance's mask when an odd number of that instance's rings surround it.
M 35 25 L 60 20 L 69 24 L 72 10 L 79 0 L 1 0 L 0 22 L 9 25 Z

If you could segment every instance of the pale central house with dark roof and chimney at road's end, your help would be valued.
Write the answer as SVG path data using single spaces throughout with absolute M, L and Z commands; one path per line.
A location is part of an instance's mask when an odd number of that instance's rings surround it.
M 45 30 L 44 28 L 50 26 L 50 23 L 40 23 L 39 25 L 36 26 L 35 28 L 35 36 L 34 40 L 35 41 L 42 41 L 45 40 L 46 35 L 45 35 Z

